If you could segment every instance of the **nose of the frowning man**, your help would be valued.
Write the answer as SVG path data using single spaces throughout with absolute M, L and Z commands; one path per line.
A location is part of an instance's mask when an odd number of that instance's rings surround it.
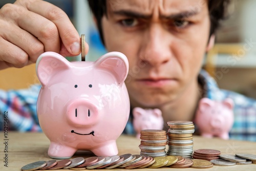
M 171 57 L 170 34 L 160 25 L 152 24 L 146 32 L 140 49 L 140 60 L 153 67 L 168 62 Z

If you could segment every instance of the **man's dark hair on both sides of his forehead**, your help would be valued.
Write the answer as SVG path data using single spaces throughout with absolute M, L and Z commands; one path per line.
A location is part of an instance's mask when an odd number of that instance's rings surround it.
M 101 19 L 106 15 L 106 0 L 88 0 L 89 6 L 97 21 L 100 38 L 104 44 Z M 214 34 L 224 18 L 229 0 L 209 0 L 208 9 L 210 14 L 210 35 Z

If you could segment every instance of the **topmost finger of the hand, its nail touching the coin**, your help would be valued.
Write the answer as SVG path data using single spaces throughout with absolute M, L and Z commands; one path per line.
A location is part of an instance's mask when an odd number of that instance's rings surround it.
M 64 11 L 44 1 L 32 2 L 27 5 L 27 8 L 46 17 L 56 25 L 61 41 L 70 54 L 78 55 L 81 52 L 80 36 Z

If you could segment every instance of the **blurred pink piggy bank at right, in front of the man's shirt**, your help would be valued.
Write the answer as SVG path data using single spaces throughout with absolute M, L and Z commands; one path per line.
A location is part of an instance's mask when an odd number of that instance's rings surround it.
M 196 113 L 195 123 L 201 135 L 211 138 L 213 136 L 228 139 L 234 122 L 233 100 L 230 98 L 224 101 L 213 101 L 202 98 L 199 102 L 199 109 Z

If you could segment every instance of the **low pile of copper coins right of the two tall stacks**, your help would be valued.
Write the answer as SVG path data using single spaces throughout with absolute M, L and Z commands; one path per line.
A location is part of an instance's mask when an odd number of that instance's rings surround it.
M 219 159 L 220 151 L 216 149 L 197 149 L 194 151 L 193 159 L 214 160 Z

